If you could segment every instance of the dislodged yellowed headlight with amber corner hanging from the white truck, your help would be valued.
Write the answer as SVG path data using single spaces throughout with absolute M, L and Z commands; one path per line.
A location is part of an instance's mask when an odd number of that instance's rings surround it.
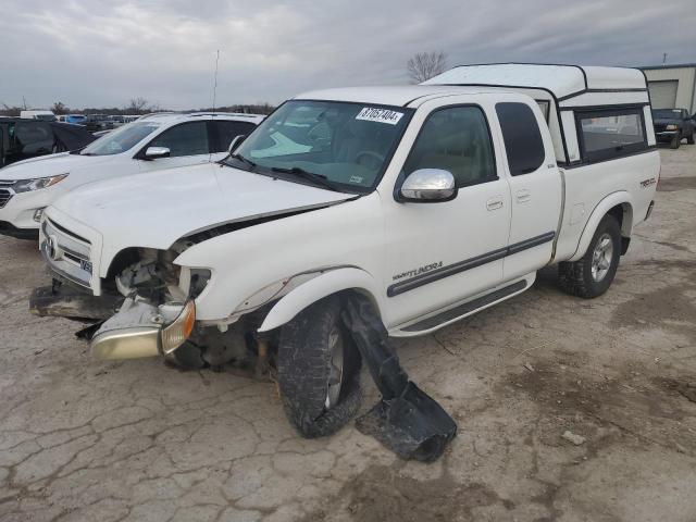
M 171 356 L 190 335 L 195 310 L 194 301 L 158 307 L 128 298 L 95 333 L 90 341 L 91 353 L 97 359 Z M 190 322 L 191 327 L 184 333 L 174 332 L 183 321 Z

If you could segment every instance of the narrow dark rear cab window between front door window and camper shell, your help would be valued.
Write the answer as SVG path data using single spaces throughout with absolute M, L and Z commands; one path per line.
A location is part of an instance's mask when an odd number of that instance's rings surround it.
M 496 103 L 510 174 L 519 176 L 536 171 L 546 152 L 539 124 L 530 105 L 517 102 Z

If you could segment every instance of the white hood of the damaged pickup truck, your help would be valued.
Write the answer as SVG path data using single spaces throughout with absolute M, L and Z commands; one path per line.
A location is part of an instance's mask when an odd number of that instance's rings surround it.
M 225 223 L 353 197 L 207 163 L 83 185 L 53 207 L 99 232 L 105 259 L 105 250 L 115 254 L 127 247 L 166 249 L 183 236 Z

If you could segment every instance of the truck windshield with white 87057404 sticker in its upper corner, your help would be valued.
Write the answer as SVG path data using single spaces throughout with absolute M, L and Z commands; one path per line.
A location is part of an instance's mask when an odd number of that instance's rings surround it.
M 411 113 L 401 107 L 290 100 L 225 162 L 284 172 L 291 181 L 316 174 L 340 190 L 366 192 L 382 177 Z

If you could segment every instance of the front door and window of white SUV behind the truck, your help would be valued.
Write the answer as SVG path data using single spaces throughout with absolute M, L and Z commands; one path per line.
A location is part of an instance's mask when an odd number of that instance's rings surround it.
M 196 165 L 210 161 L 210 139 L 206 120 L 181 123 L 156 136 L 137 154 L 141 171 L 159 171 L 176 166 Z M 169 158 L 145 160 L 145 151 L 149 147 L 166 147 Z

